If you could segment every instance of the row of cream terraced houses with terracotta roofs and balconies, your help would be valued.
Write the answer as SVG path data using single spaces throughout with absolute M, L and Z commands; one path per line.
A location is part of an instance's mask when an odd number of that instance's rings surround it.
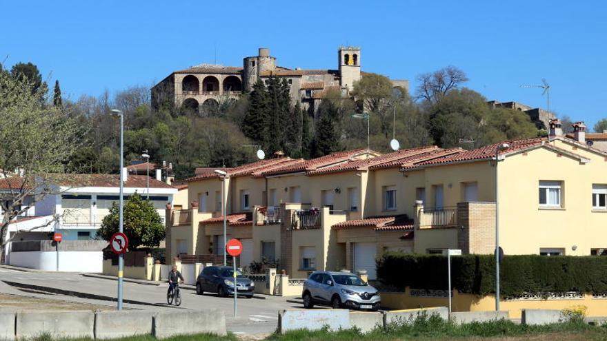
M 188 207 L 167 208 L 167 260 L 220 260 L 226 203 L 240 267 L 268 260 L 292 278 L 348 269 L 374 280 L 385 251 L 491 254 L 496 188 L 505 254 L 605 255 L 607 153 L 584 143 L 583 123 L 571 136 L 560 124 L 547 138 L 473 150 L 357 149 L 225 175 L 200 169 L 187 180 Z

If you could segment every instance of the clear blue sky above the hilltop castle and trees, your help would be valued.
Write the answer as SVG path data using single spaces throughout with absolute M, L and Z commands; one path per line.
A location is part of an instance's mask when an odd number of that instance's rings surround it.
M 151 85 L 198 63 L 336 68 L 339 45 L 392 79 L 455 65 L 488 99 L 546 106 L 592 126 L 607 116 L 604 1 L 10 1 L 0 61 L 31 61 L 63 94 Z M 217 59 L 215 56 L 217 55 Z

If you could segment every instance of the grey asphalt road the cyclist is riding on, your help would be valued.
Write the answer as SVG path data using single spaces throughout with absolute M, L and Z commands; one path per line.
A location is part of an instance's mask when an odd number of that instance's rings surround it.
M 31 291 L 21 291 L 6 282 L 17 282 L 24 285 L 36 285 L 48 290 L 59 289 L 79 293 L 89 293 L 99 296 L 115 298 L 117 296 L 117 281 L 83 276 L 79 273 L 54 272 L 26 272 L 0 267 L 0 292 L 23 293 L 32 296 Z M 146 302 L 148 304 L 125 304 L 129 309 L 146 309 L 161 311 L 164 309 L 221 309 L 226 313 L 228 331 L 237 334 L 272 333 L 278 325 L 278 311 L 282 309 L 301 309 L 301 304 L 290 303 L 279 296 L 259 295 L 258 298 L 239 298 L 238 313 L 234 316 L 233 298 L 221 298 L 213 293 L 197 295 L 195 291 L 182 289 L 182 303 L 180 307 L 166 304 L 167 285 L 143 285 L 124 282 L 124 299 Z M 48 295 L 45 296 L 48 298 Z M 94 302 L 95 304 L 115 305 L 115 302 L 91 300 L 88 298 L 74 298 L 68 295 L 53 295 L 52 298 L 61 300 L 75 300 L 77 302 Z

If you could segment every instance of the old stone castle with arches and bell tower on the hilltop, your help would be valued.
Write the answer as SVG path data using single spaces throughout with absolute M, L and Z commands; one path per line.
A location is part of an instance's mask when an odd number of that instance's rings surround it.
M 250 92 L 257 79 L 268 81 L 270 76 L 286 79 L 292 101 L 315 112 L 319 101 L 329 90 L 350 96 L 354 83 L 361 78 L 361 49 L 341 47 L 337 50 L 337 69 L 303 70 L 277 66 L 268 48 L 259 48 L 257 56 L 243 59 L 243 65 L 223 66 L 200 64 L 172 72 L 152 87 L 152 105 L 162 103 L 186 106 L 205 114 L 208 109 Z M 395 87 L 408 90 L 408 81 L 393 80 Z

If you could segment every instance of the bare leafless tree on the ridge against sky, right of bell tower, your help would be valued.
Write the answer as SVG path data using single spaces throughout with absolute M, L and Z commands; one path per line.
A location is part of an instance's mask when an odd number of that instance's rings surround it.
M 420 83 L 417 87 L 417 98 L 424 99 L 430 105 L 435 105 L 448 92 L 466 83 L 468 77 L 464 71 L 449 65 L 435 72 L 420 74 L 417 81 Z

